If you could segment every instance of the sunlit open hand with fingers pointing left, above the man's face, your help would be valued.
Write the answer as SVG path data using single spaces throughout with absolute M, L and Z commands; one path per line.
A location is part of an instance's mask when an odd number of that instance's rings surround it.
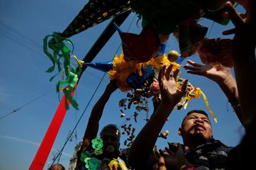
M 230 68 L 224 67 L 221 63 L 218 65 L 201 65 L 192 60 L 187 60 L 187 62 L 191 65 L 184 66 L 186 70 L 189 70 L 187 73 L 205 76 L 218 84 L 225 83 L 229 78 L 233 78 Z

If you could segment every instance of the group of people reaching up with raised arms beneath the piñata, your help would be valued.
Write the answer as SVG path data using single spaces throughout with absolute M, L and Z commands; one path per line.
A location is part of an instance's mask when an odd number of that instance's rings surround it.
M 234 34 L 231 46 L 231 56 L 234 62 L 235 78 L 231 68 L 223 65 L 202 65 L 187 60 L 189 65 L 184 68 L 188 73 L 205 76 L 220 86 L 228 101 L 233 106 L 237 118 L 245 128 L 245 136 L 241 144 L 228 147 L 220 140 L 213 138 L 211 122 L 203 110 L 191 110 L 182 120 L 178 129 L 183 144 L 168 143 L 164 149 L 155 147 L 158 134 L 171 115 L 174 107 L 181 100 L 186 91 L 187 80 L 181 88 L 176 86 L 177 69 L 171 74 L 173 65 L 163 67 L 159 73 L 161 100 L 155 103 L 154 113 L 139 132 L 127 152 L 119 152 L 120 131 L 114 124 L 108 124 L 100 132 L 103 140 L 101 154 L 94 151 L 92 140 L 99 130 L 99 121 L 103 109 L 111 94 L 117 89 L 116 83 L 111 81 L 93 107 L 87 128 L 83 137 L 82 147 L 77 153 L 75 169 L 90 169 L 88 162 L 81 159 L 87 152 L 90 158 L 96 158 L 98 169 L 249 169 L 254 167 L 253 156 L 255 148 L 252 143 L 252 134 L 255 128 L 254 85 L 256 84 L 255 58 L 255 7 L 254 0 L 237 0 L 246 10 L 246 14 L 238 14 L 232 2 L 226 2 L 226 13 L 235 28 L 224 31 L 224 35 Z M 93 152 L 94 151 L 94 152 Z M 89 158 L 89 159 L 90 159 Z M 87 159 L 88 160 L 88 159 Z M 113 163 L 112 160 L 117 160 Z M 118 162 L 124 163 L 121 166 Z M 117 168 L 117 166 L 119 168 Z

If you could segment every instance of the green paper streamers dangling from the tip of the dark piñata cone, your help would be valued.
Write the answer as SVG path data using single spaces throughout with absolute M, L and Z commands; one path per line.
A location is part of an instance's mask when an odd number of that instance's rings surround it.
M 49 37 L 51 37 L 51 39 L 48 41 Z M 72 51 L 70 51 L 69 47 L 67 47 L 64 42 L 72 45 Z M 53 51 L 52 54 L 48 51 L 48 48 Z M 64 70 L 64 75 L 66 78 L 65 80 L 58 81 L 56 84 L 56 92 L 59 94 L 61 85 L 67 85 L 63 89 L 63 92 L 66 95 L 66 109 L 69 109 L 69 105 L 67 104 L 67 100 L 69 100 L 70 104 L 76 110 L 79 110 L 78 103 L 71 95 L 75 89 L 75 84 L 79 80 L 79 76 L 82 73 L 82 68 L 80 67 L 78 60 L 76 60 L 77 64 L 79 65 L 78 72 L 75 70 L 73 65 L 70 64 L 70 52 L 74 51 L 74 44 L 72 41 L 70 41 L 70 39 L 62 37 L 60 33 L 54 32 L 51 35 L 45 36 L 43 39 L 43 51 L 53 63 L 53 66 L 49 67 L 46 72 L 52 73 L 55 70 L 56 65 L 58 69 L 58 73 L 52 76 L 49 81 L 52 81 L 57 75 L 59 75 L 59 73 L 61 73 L 61 70 Z M 63 63 L 61 63 L 61 60 L 63 60 Z

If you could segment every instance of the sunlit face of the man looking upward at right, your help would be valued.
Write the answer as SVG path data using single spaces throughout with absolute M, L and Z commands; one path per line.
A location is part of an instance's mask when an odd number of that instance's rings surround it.
M 183 139 L 198 137 L 199 140 L 207 141 L 212 138 L 211 123 L 202 113 L 191 113 L 186 117 L 183 127 L 179 128 L 178 133 Z

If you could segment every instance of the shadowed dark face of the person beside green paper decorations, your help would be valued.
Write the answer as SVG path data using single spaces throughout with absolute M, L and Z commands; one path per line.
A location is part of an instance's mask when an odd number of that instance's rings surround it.
M 101 133 L 103 140 L 103 150 L 107 152 L 114 152 L 119 149 L 119 137 L 115 131 L 105 131 Z

